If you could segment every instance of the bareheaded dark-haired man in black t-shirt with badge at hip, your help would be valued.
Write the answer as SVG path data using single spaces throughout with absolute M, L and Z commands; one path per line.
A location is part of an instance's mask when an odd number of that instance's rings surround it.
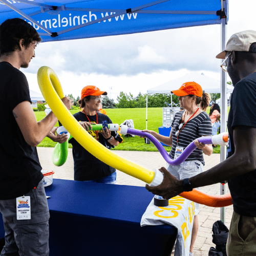
M 36 121 L 26 76 L 41 41 L 23 19 L 0 26 L 0 211 L 5 227 L 1 255 L 49 255 L 49 209 L 36 146 L 50 135 L 57 118 L 50 113 Z M 70 109 L 69 98 L 62 99 Z M 57 138 L 63 141 L 65 138 Z

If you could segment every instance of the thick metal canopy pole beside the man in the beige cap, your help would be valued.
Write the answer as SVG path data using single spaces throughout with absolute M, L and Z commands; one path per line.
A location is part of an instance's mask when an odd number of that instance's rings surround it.
M 221 0 L 221 4 L 223 7 L 223 0 Z M 223 11 L 223 10 L 222 10 Z M 226 46 L 226 15 L 221 18 L 221 51 L 225 50 Z M 223 61 L 223 60 L 221 60 Z M 227 131 L 227 77 L 226 72 L 221 69 L 221 133 Z M 221 154 L 220 154 L 221 162 L 226 159 L 226 146 L 221 146 Z M 226 184 L 221 183 L 221 195 L 226 194 Z M 220 219 L 225 224 L 225 207 L 220 209 Z

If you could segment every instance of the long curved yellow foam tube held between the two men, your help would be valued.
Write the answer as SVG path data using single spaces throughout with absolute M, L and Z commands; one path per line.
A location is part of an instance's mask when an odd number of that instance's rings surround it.
M 130 160 L 120 157 L 108 150 L 89 133 L 83 129 L 78 121 L 72 116 L 65 104 L 61 101 L 65 97 L 60 81 L 55 72 L 49 67 L 41 67 L 37 72 L 37 81 L 42 95 L 50 106 L 54 115 L 69 133 L 88 152 L 100 161 L 121 170 L 121 172 L 140 179 L 150 184 L 154 178 L 154 171 L 147 169 Z

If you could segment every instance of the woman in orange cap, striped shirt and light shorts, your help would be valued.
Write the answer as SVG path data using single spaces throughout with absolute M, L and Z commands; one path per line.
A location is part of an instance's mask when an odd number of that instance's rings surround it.
M 197 140 L 197 138 L 201 136 L 211 136 L 211 120 L 208 114 L 205 113 L 205 110 L 210 102 L 210 95 L 204 93 L 201 86 L 196 82 L 185 82 L 182 84 L 179 90 L 172 91 L 172 93 L 179 96 L 178 100 L 180 101 L 180 106 L 185 110 L 175 114 L 171 125 L 172 130 L 170 132 L 170 136 L 166 137 L 154 131 L 144 131 L 151 133 L 162 143 L 172 146 L 172 150 L 170 151 L 170 157 L 172 159 L 176 159 L 189 145 L 189 143 L 195 140 L 195 144 L 197 146 L 196 150 L 193 151 L 183 163 L 176 166 L 166 163 L 166 169 L 173 176 L 175 176 L 177 179 L 186 179 L 203 172 L 203 153 L 208 156 L 210 156 L 212 153 L 211 145 L 199 143 Z M 191 234 L 191 244 L 189 249 L 190 256 L 193 255 L 193 247 L 198 232 L 198 210 L 199 204 L 196 204 L 195 218 Z

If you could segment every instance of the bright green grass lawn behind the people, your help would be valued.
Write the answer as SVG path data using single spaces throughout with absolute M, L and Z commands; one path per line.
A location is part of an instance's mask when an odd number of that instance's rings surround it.
M 228 108 L 229 110 L 229 108 Z M 208 107 L 207 113 L 210 109 Z M 72 114 L 75 114 L 76 110 L 70 111 Z M 146 109 L 106 109 L 106 113 L 110 117 L 113 123 L 121 124 L 126 119 L 133 119 L 135 129 L 143 130 L 146 128 Z M 35 112 L 37 121 L 45 117 L 45 112 L 39 111 Z M 58 126 L 57 124 L 55 126 Z M 158 133 L 158 127 L 162 126 L 162 108 L 148 108 L 147 111 L 147 129 L 153 130 Z M 157 148 L 153 143 L 145 144 L 143 138 L 135 137 L 123 137 L 123 142 L 116 146 L 113 150 L 124 150 L 124 151 L 154 151 L 157 152 Z M 42 147 L 54 147 L 56 142 L 53 142 L 49 138 L 45 138 L 38 146 Z M 69 144 L 69 147 L 72 148 L 72 145 Z M 167 152 L 170 151 L 169 146 L 164 146 Z M 220 153 L 220 146 L 217 145 L 214 148 L 214 153 Z

